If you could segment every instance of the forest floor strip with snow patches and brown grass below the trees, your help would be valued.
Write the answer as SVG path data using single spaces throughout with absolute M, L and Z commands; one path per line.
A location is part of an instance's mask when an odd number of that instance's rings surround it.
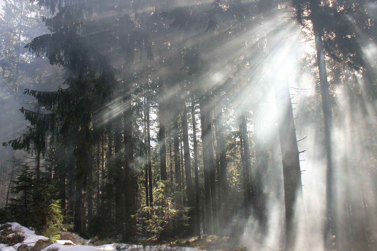
M 134 244 L 111 243 L 107 240 L 85 240 L 73 233 L 62 233 L 61 240 L 50 243 L 48 238 L 35 234 L 35 231 L 13 222 L 0 230 L 1 251 L 234 251 L 244 249 L 230 238 L 203 236 L 165 240 L 162 242 L 139 240 Z M 3 225 L 4 226 L 4 225 Z M 0 225 L 2 227 L 2 225 Z

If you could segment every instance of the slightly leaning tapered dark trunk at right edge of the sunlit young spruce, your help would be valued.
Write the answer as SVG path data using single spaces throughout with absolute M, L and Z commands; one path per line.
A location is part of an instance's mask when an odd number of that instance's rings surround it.
M 186 187 L 187 187 L 187 206 L 190 207 L 188 216 L 189 219 L 189 234 L 195 233 L 195 192 L 192 184 L 191 175 L 191 157 L 190 157 L 190 145 L 189 145 L 189 127 L 187 125 L 187 107 L 184 100 L 184 110 L 182 114 L 182 138 L 184 148 L 184 164 L 186 175 Z

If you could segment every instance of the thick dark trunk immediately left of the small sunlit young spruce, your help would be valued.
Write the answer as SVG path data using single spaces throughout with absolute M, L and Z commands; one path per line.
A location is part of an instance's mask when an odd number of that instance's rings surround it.
M 124 86 L 124 169 L 125 169 L 125 201 L 126 201 L 126 236 L 136 235 L 136 193 L 135 193 L 135 168 L 133 167 L 133 139 L 132 139 L 132 83 L 126 77 Z

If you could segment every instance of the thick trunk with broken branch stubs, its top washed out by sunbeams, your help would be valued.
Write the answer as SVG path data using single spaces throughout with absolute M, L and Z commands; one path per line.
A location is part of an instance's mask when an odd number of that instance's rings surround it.
M 282 152 L 285 201 L 285 251 L 296 250 L 297 202 L 302 200 L 301 170 L 292 104 L 286 76 L 275 81 L 280 147 Z

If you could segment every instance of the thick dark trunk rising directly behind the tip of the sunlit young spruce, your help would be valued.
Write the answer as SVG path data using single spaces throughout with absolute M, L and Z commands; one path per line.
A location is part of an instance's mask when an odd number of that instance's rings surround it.
M 159 149 L 160 149 L 160 174 L 161 180 L 167 180 L 167 166 L 166 166 L 166 104 L 164 98 L 164 81 L 159 81 L 161 97 L 159 99 Z

